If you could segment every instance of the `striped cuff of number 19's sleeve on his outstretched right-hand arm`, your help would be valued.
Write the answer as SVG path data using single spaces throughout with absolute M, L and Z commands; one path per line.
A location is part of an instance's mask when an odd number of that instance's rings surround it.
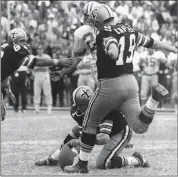
M 137 40 L 136 40 L 136 45 L 137 47 L 146 47 L 146 48 L 150 48 L 153 45 L 153 39 L 143 35 L 140 32 L 136 32 L 137 35 Z

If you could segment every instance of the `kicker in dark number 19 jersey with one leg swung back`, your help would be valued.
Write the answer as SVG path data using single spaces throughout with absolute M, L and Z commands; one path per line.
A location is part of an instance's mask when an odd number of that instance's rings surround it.
M 141 110 L 138 83 L 133 73 L 133 54 L 143 46 L 168 52 L 175 47 L 144 36 L 130 26 L 115 24 L 114 17 L 104 6 L 97 6 L 89 18 L 99 29 L 96 37 L 98 86 L 86 110 L 80 142 L 79 161 L 66 166 L 67 173 L 88 173 L 88 160 L 95 145 L 97 126 L 114 108 L 118 107 L 135 133 L 145 133 L 155 115 L 160 97 L 168 91 L 160 84 L 152 86 L 152 95 Z

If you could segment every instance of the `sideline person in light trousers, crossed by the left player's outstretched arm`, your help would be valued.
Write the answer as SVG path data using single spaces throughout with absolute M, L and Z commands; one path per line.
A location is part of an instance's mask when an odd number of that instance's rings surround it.
M 37 56 L 48 57 L 49 55 L 44 54 L 43 45 L 37 47 Z M 47 113 L 50 114 L 52 111 L 52 96 L 51 96 L 51 82 L 48 67 L 37 67 L 34 68 L 34 104 L 35 111 L 39 113 L 40 97 L 41 91 L 43 90 L 46 103 L 47 103 Z

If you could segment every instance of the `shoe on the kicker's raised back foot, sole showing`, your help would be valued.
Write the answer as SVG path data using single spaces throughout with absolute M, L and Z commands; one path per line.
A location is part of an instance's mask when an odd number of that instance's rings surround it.
M 152 98 L 155 101 L 160 101 L 163 96 L 169 94 L 168 90 L 161 84 L 157 83 L 152 86 Z

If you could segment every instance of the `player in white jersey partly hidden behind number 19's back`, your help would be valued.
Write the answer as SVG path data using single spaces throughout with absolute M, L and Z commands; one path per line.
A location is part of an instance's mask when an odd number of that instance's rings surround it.
M 94 90 L 95 80 L 92 73 L 94 55 L 91 53 L 95 50 L 96 28 L 88 24 L 83 25 L 74 32 L 74 38 L 74 53 L 81 60 L 77 66 L 77 73 L 79 74 L 77 85 L 86 85 Z

